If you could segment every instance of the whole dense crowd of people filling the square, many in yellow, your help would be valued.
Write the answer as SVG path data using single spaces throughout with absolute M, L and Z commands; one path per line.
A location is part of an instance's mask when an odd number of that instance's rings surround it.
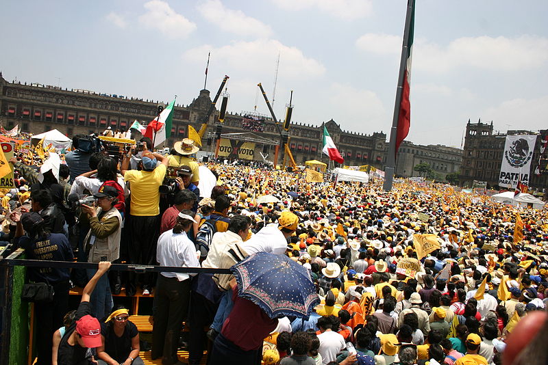
M 121 290 L 154 296 L 151 358 L 164 365 L 182 364 L 183 323 L 189 364 L 205 350 L 208 364 L 546 362 L 546 210 L 443 184 L 385 192 L 230 163 L 206 171 L 190 139 L 163 155 L 143 137 L 117 161 L 84 137 L 64 157 L 10 160 L 0 240 L 30 259 L 98 265 L 28 269 L 54 289 L 34 307 L 37 364 L 142 364 L 138 329 L 112 297 Z M 269 317 L 228 273 L 106 274 L 110 262 L 229 269 L 258 252 L 308 269 L 321 299 L 309 316 Z M 71 286 L 84 288 L 78 308 Z

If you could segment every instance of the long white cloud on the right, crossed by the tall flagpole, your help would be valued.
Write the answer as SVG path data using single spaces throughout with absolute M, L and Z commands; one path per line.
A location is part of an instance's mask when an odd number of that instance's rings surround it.
M 366 33 L 356 40 L 362 51 L 376 55 L 399 55 L 401 37 Z M 446 46 L 415 38 L 413 67 L 444 73 L 458 67 L 515 71 L 541 67 L 548 62 L 548 38 L 536 36 L 464 37 Z

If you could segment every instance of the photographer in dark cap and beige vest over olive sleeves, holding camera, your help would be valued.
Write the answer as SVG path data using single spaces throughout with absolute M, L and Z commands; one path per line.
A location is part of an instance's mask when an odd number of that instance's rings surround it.
M 116 208 L 118 190 L 103 185 L 93 196 L 97 198 L 97 208 L 82 204 L 82 212 L 89 218 L 90 230 L 85 239 L 85 247 L 90 247 L 88 262 L 114 261 L 119 258 L 122 216 Z M 95 275 L 95 269 L 86 270 L 88 279 Z M 108 276 L 102 276 L 91 293 L 90 305 L 93 314 L 102 319 L 113 306 Z

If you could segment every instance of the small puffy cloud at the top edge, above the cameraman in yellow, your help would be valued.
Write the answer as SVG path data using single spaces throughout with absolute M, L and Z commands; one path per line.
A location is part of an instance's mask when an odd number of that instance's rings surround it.
M 152 0 L 144 6 L 147 12 L 139 16 L 140 23 L 158 29 L 168 38 L 186 38 L 196 29 L 195 23 L 175 12 L 165 1 Z

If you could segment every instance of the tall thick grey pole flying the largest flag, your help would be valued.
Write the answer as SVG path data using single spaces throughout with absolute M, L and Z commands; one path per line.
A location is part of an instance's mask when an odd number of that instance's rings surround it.
M 414 7 L 414 0 L 408 0 L 407 14 L 406 14 L 406 27 L 403 29 L 403 45 L 401 46 L 401 57 L 399 60 L 399 75 L 398 75 L 398 85 L 396 89 L 394 116 L 392 118 L 392 128 L 390 129 L 390 144 L 388 145 L 388 158 L 386 159 L 387 165 L 386 165 L 385 174 L 384 174 L 384 184 L 383 184 L 384 191 L 392 190 L 394 172 L 396 169 L 397 129 L 398 129 L 401 98 L 403 96 L 403 82 L 404 82 L 404 75 L 406 70 L 406 62 L 409 56 L 408 42 L 409 42 L 409 33 L 410 33 L 410 27 L 411 27 L 413 7 Z

